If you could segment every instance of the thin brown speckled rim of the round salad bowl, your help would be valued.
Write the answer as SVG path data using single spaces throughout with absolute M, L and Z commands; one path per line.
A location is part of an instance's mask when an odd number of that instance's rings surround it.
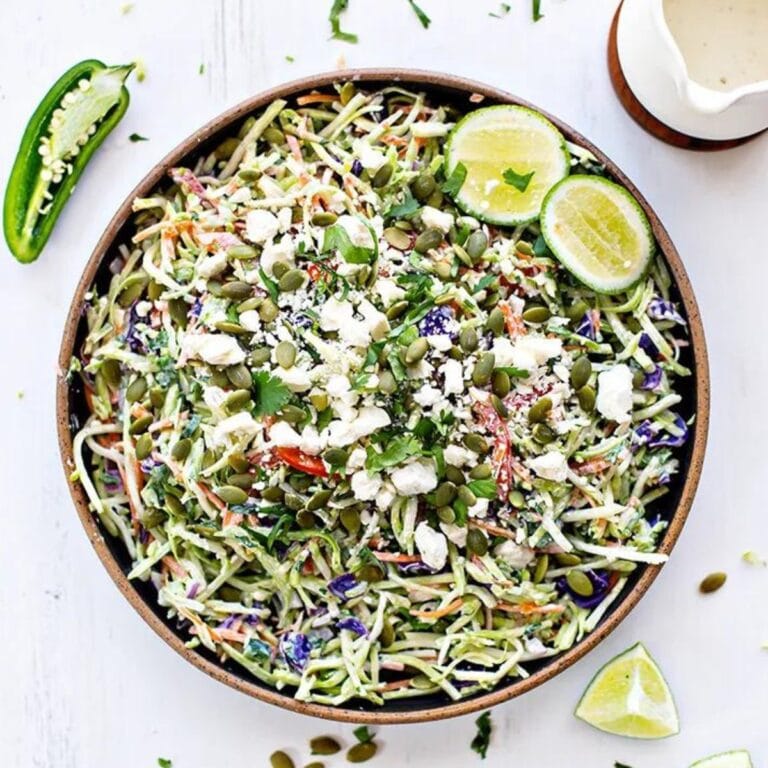
M 696 298 L 693 293 L 688 275 L 686 274 L 680 256 L 675 249 L 666 229 L 662 225 L 659 217 L 654 210 L 640 194 L 635 185 L 624 175 L 624 173 L 605 156 L 590 141 L 544 110 L 519 99 L 512 94 L 498 88 L 486 85 L 484 83 L 469 80 L 463 77 L 447 75 L 438 72 L 431 72 L 418 69 L 396 69 L 396 68 L 370 68 L 370 69 L 349 69 L 325 72 L 310 77 L 304 77 L 291 82 L 262 91 L 236 106 L 226 110 L 218 117 L 206 123 L 202 128 L 195 131 L 191 136 L 182 141 L 175 149 L 169 152 L 152 170 L 139 182 L 136 188 L 128 195 L 122 205 L 118 208 L 112 217 L 104 234 L 99 239 L 83 271 L 82 277 L 75 290 L 69 312 L 67 314 L 64 332 L 61 341 L 59 353 L 59 368 L 56 383 L 56 420 L 59 449 L 64 467 L 67 484 L 69 486 L 72 500 L 77 509 L 85 531 L 90 539 L 96 554 L 107 569 L 115 585 L 123 593 L 128 602 L 139 613 L 144 621 L 178 654 L 187 661 L 194 664 L 198 669 L 210 675 L 226 685 L 242 693 L 246 693 L 260 701 L 272 704 L 283 709 L 289 709 L 303 715 L 310 715 L 327 720 L 337 720 L 351 723 L 367 723 L 375 725 L 390 725 L 402 723 L 419 723 L 434 720 L 442 720 L 449 717 L 465 715 L 476 712 L 481 709 L 501 704 L 516 696 L 519 696 L 533 688 L 541 685 L 563 670 L 570 667 L 577 660 L 594 649 L 608 634 L 610 634 L 634 608 L 640 598 L 648 590 L 654 579 L 659 573 L 660 566 L 647 566 L 633 588 L 622 598 L 621 602 L 611 612 L 611 614 L 601 623 L 593 632 L 578 642 L 570 650 L 556 657 L 553 662 L 546 667 L 534 672 L 530 677 L 516 680 L 502 688 L 492 690 L 488 693 L 478 695 L 466 701 L 447 703 L 443 706 L 433 707 L 425 710 L 388 712 L 386 707 L 381 710 L 357 711 L 352 708 L 335 708 L 331 706 L 307 703 L 297 701 L 296 699 L 268 688 L 262 688 L 254 682 L 224 669 L 218 664 L 209 661 L 192 649 L 184 646 L 182 638 L 175 634 L 163 623 L 163 621 L 152 611 L 149 604 L 134 590 L 131 583 L 126 578 L 122 569 L 113 559 L 112 554 L 104 540 L 102 531 L 95 518 L 88 508 L 88 502 L 82 487 L 77 483 L 69 481 L 69 475 L 74 467 L 72 453 L 72 436 L 70 434 L 70 407 L 69 407 L 69 387 L 66 381 L 65 372 L 68 369 L 69 361 L 74 351 L 75 339 L 77 336 L 78 324 L 80 322 L 80 311 L 83 304 L 83 298 L 86 291 L 90 288 L 98 268 L 113 245 L 117 234 L 126 219 L 131 214 L 131 204 L 134 198 L 143 197 L 151 191 L 162 179 L 165 178 L 168 168 L 178 165 L 182 158 L 194 152 L 196 147 L 210 139 L 212 136 L 237 122 L 245 115 L 269 104 L 277 98 L 290 98 L 300 93 L 311 91 L 317 88 L 323 88 L 332 85 L 335 82 L 355 80 L 362 83 L 368 82 L 397 82 L 406 86 L 416 86 L 418 88 L 443 88 L 463 92 L 467 96 L 479 94 L 494 103 L 519 104 L 525 107 L 535 109 L 551 120 L 569 140 L 590 150 L 594 155 L 604 163 L 610 175 L 623 184 L 638 200 L 653 228 L 653 233 L 659 243 L 659 248 L 664 254 L 667 265 L 669 266 L 677 286 L 677 290 L 685 307 L 688 318 L 690 341 L 693 348 L 693 357 L 695 362 L 695 413 L 696 420 L 693 426 L 693 442 L 690 453 L 690 463 L 687 467 L 687 474 L 680 494 L 680 501 L 677 509 L 671 515 L 669 528 L 659 547 L 659 551 L 668 554 L 680 532 L 683 528 L 691 505 L 694 494 L 699 483 L 701 469 L 704 460 L 704 452 L 707 442 L 707 430 L 709 425 L 709 368 L 707 362 L 707 348 L 704 338 L 704 329 L 699 314 Z

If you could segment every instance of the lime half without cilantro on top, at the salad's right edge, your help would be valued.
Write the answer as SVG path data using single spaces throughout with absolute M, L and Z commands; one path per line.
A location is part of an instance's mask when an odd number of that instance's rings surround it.
M 569 176 L 557 184 L 541 209 L 541 234 L 560 263 L 598 293 L 634 285 L 655 247 L 635 198 L 599 176 Z

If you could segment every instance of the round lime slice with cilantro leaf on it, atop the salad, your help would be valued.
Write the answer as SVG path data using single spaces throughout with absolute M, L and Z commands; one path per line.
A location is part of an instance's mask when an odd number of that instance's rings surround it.
M 456 204 L 491 224 L 525 224 L 538 218 L 552 185 L 568 175 L 571 158 L 552 123 L 525 107 L 501 105 L 470 112 L 453 129 L 445 150 L 446 177 L 459 163 L 467 176 Z M 504 172 L 524 179 L 521 191 Z

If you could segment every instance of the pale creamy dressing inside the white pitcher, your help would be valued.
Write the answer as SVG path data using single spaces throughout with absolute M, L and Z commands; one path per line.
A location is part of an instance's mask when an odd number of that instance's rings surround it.
M 664 0 L 692 80 L 729 91 L 768 80 L 768 0 Z

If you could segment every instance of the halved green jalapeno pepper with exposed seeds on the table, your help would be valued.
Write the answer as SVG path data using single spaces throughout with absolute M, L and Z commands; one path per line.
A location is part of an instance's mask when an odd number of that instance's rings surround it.
M 133 67 L 81 61 L 54 83 L 30 118 L 3 204 L 5 239 L 19 261 L 40 255 L 91 155 L 120 122 Z

